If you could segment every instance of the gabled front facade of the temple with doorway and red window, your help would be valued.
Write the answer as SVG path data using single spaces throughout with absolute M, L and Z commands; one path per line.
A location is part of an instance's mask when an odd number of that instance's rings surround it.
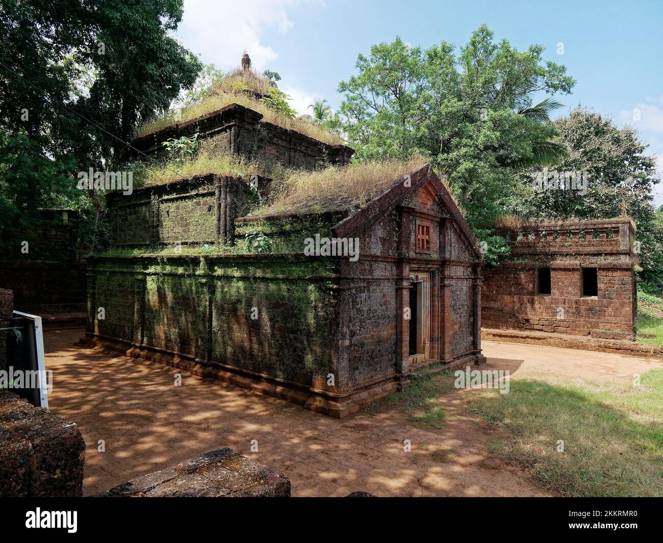
M 398 381 L 423 364 L 482 360 L 481 255 L 428 166 L 336 224 L 333 234 L 361 244 L 358 262 L 341 260 L 340 282 L 349 340 L 343 356 L 355 391 L 394 364 Z

